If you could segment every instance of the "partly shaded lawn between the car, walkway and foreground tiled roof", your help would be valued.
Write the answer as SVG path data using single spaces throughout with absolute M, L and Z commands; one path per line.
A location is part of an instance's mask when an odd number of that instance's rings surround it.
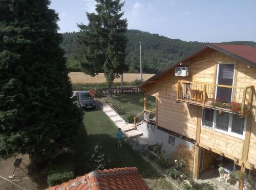
M 136 97 L 140 96 L 137 95 Z M 132 99 L 129 100 L 127 98 L 127 104 L 130 104 L 131 100 Z M 80 153 L 84 152 L 88 147 L 99 144 L 102 146 L 103 152 L 110 154 L 111 157 L 111 162 L 106 166 L 106 169 L 137 167 L 141 176 L 151 189 L 173 189 L 173 185 L 158 174 L 155 169 L 144 161 L 137 152 L 132 150 L 128 144 L 124 142 L 122 148 L 117 147 L 117 128 L 102 110 L 98 109 L 86 112 L 83 121 L 86 126 L 87 136 L 84 135 L 85 130 L 81 126 L 77 140 L 77 147 L 79 147 Z

